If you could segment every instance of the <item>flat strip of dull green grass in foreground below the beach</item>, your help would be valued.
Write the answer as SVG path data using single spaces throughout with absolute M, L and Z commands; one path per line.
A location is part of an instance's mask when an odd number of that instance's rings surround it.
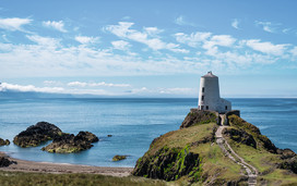
M 98 174 L 45 174 L 45 173 L 20 173 L 0 171 L 1 186 L 165 186 L 166 182 L 148 179 L 144 177 L 112 177 Z

